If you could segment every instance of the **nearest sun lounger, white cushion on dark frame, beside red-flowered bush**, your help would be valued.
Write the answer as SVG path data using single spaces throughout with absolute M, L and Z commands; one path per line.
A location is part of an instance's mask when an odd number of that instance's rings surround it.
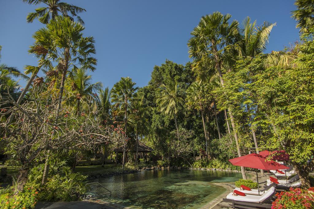
M 275 194 L 275 187 L 270 187 L 262 195 L 233 196 L 232 192 L 223 199 L 223 201 L 231 202 L 233 208 L 271 208 L 272 197 Z

